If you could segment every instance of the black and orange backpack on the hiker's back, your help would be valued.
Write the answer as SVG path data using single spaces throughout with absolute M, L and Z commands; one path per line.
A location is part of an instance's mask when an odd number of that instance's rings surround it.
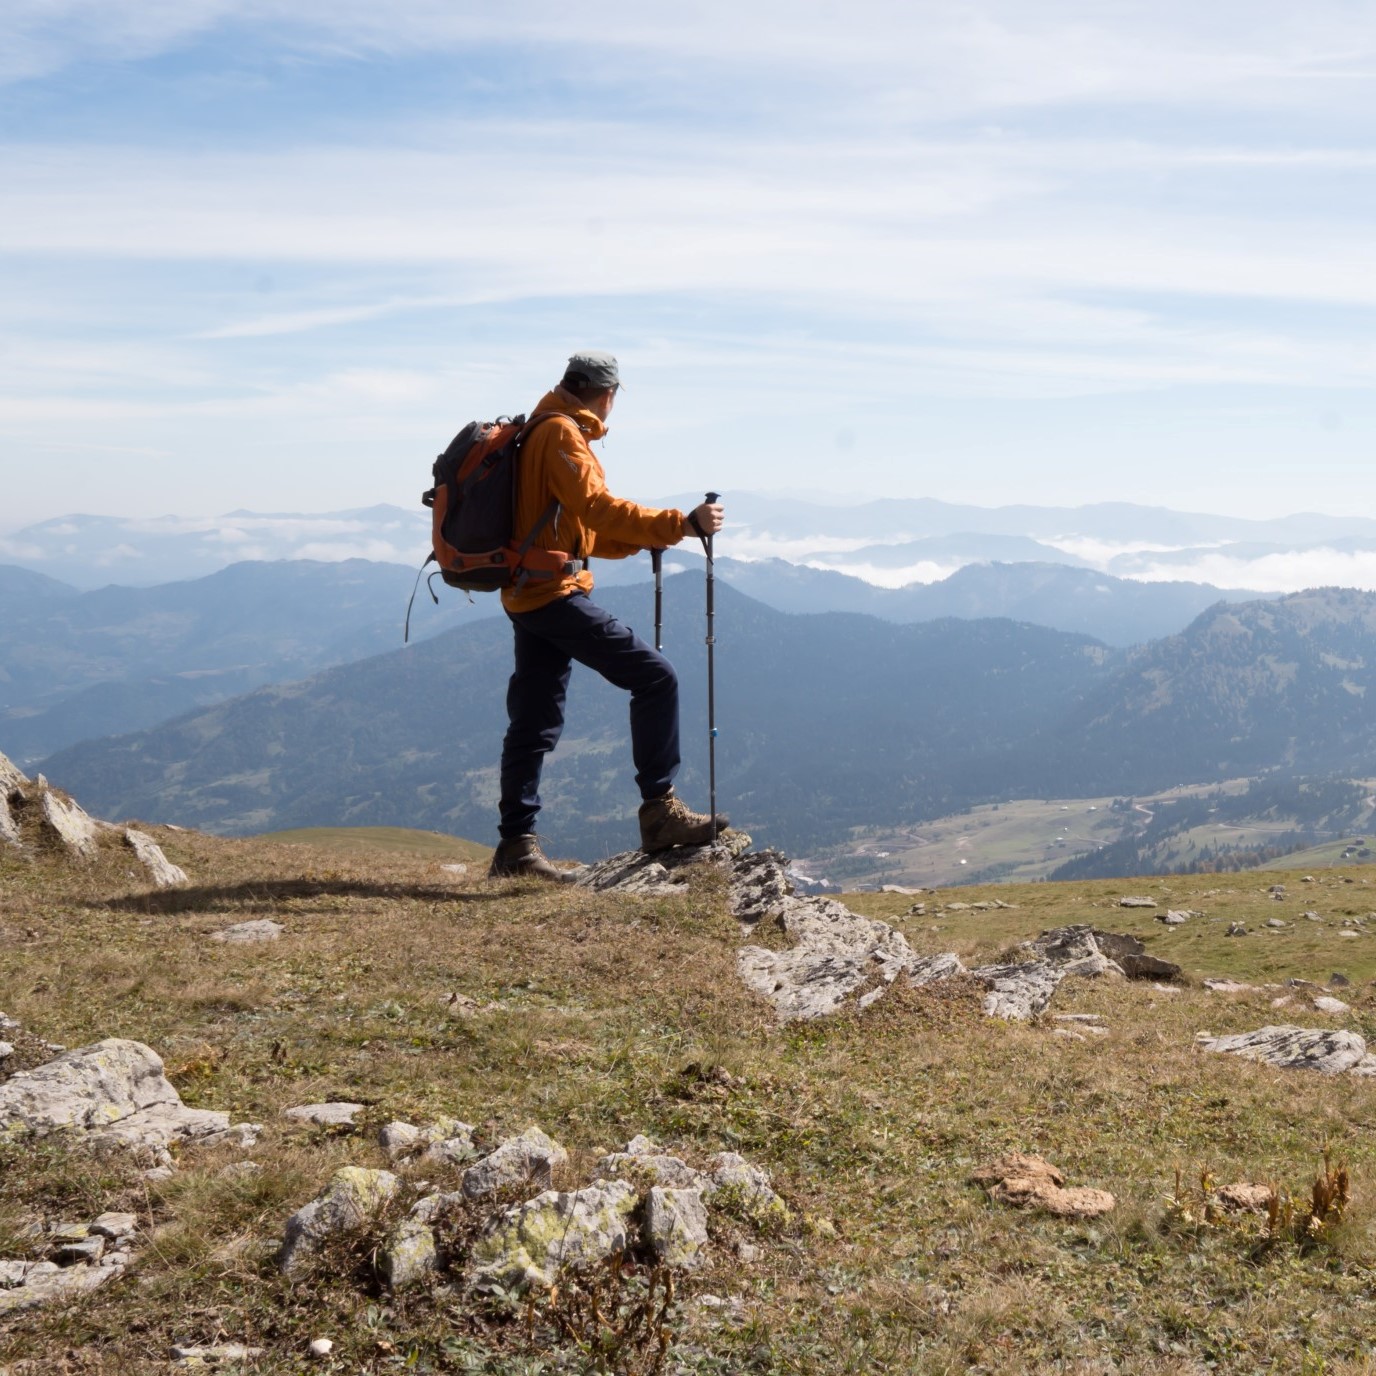
M 530 534 L 515 539 L 516 483 L 520 454 L 531 431 L 541 421 L 559 416 L 544 411 L 499 416 L 495 421 L 469 421 L 435 460 L 435 486 L 421 495 L 432 512 L 433 548 L 421 574 L 432 561 L 450 588 L 468 593 L 524 588 L 526 583 L 564 578 L 577 568 L 559 549 L 537 549 L 535 537 L 559 519 L 559 502 L 550 498 Z M 431 574 L 431 579 L 436 575 Z M 420 574 L 417 575 L 420 585 Z M 427 581 L 431 597 L 439 603 Z M 411 603 L 416 590 L 411 590 Z M 410 638 L 411 608 L 406 608 L 406 638 Z

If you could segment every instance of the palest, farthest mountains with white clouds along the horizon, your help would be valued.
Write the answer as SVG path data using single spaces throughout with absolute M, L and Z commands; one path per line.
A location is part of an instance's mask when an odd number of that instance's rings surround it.
M 687 508 L 699 499 L 651 502 Z M 780 557 L 889 588 L 933 582 L 971 563 L 1020 561 L 1274 590 L 1332 582 L 1376 588 L 1376 520 L 1366 516 L 1245 520 L 1126 502 L 985 508 L 889 498 L 839 505 L 758 493 L 727 494 L 727 508 L 722 557 Z M 428 520 L 420 505 L 215 517 L 73 515 L 0 535 L 0 561 L 87 589 L 200 578 L 249 560 L 414 567 L 429 548 Z M 682 560 L 684 552 L 673 557 Z M 605 581 L 621 575 L 612 571 Z

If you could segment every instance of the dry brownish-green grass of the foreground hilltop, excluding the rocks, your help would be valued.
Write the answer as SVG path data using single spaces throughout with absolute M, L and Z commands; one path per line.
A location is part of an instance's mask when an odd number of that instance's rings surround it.
M 281 1116 L 327 1098 L 366 1104 L 367 1124 L 453 1113 L 487 1142 L 539 1123 L 581 1170 L 636 1132 L 768 1167 L 794 1222 L 762 1238 L 721 1225 L 711 1267 L 663 1317 L 669 1370 L 1372 1369 L 1376 1086 L 1193 1046 L 1204 1028 L 1332 1021 L 1300 1004 L 1271 1009 L 1278 991 L 1072 981 L 1054 1011 L 1099 1013 L 1109 1028 L 1084 1042 L 1053 1036 L 1050 1021 L 987 1022 L 967 981 L 900 988 L 867 1013 L 780 1029 L 735 977 L 739 937 L 714 877 L 687 899 L 623 899 L 488 883 L 377 850 L 158 839 L 193 888 L 149 894 L 116 853 L 88 870 L 0 857 L 10 934 L 0 1009 L 69 1046 L 147 1042 L 187 1102 L 264 1124 L 250 1153 L 264 1170 L 226 1174 L 242 1152 L 187 1152 L 173 1179 L 149 1185 L 127 1161 L 61 1142 L 0 1148 L 6 1255 L 36 1215 L 124 1207 L 143 1223 L 135 1276 L 0 1325 L 10 1376 L 162 1372 L 172 1342 L 216 1339 L 266 1347 L 253 1370 L 296 1372 L 319 1335 L 336 1342 L 321 1370 L 616 1369 L 594 1354 L 586 1324 L 578 1339 L 575 1300 L 561 1328 L 553 1314 L 530 1325 L 480 1313 L 440 1287 L 388 1296 L 372 1278 L 367 1238 L 305 1281 L 279 1278 L 271 1251 L 286 1215 L 336 1165 L 381 1164 L 367 1132 Z M 962 889 L 926 896 L 927 915 L 903 929 L 923 951 L 991 958 L 1043 927 L 1088 921 L 1143 934 L 1192 976 L 1340 969 L 1355 1011 L 1339 1025 L 1372 1031 L 1376 936 L 1335 933 L 1376 894 L 1324 879 L 1269 874 L 1266 885 L 1289 885 L 1285 904 L 1247 875 Z M 1167 930 L 1117 908 L 1135 892 L 1205 916 Z M 1018 907 L 938 911 L 944 899 L 985 893 Z M 910 904 L 854 900 L 889 918 Z M 1263 926 L 1303 908 L 1325 925 Z M 206 940 L 259 916 L 281 922 L 282 940 Z M 1254 936 L 1223 938 L 1229 921 Z M 1245 1236 L 1171 1226 L 1176 1171 L 1284 1182 L 1310 1210 L 1325 1145 L 1333 1170 L 1348 1172 L 1350 1201 L 1311 1245 L 1255 1247 L 1265 1219 Z M 1112 1190 L 1117 1210 L 1066 1223 L 991 1204 L 969 1176 L 1007 1150 Z M 735 1244 L 747 1241 L 760 1254 L 742 1262 Z M 739 1303 L 705 1306 L 705 1295 Z

